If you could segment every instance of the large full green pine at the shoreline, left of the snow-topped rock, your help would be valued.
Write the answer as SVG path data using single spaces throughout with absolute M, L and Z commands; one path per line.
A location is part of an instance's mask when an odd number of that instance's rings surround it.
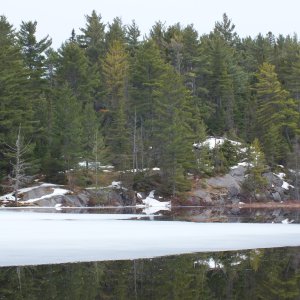
M 167 69 L 161 80 L 155 90 L 151 140 L 154 161 L 161 168 L 168 192 L 175 195 L 188 189 L 185 175 L 193 163 L 193 134 L 187 122 L 190 114 L 186 110 L 189 97 L 181 78 L 172 69 Z

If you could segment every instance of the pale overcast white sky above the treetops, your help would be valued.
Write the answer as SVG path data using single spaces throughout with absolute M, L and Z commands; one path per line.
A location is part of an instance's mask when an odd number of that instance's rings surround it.
M 19 28 L 21 21 L 37 21 L 37 36 L 49 35 L 57 48 L 70 37 L 72 28 L 79 33 L 85 15 L 95 9 L 104 23 L 121 17 L 124 24 L 135 20 L 147 34 L 161 20 L 166 25 L 194 24 L 200 33 L 208 33 L 227 13 L 239 36 L 255 37 L 259 32 L 300 33 L 300 0 L 2 0 L 0 14 Z

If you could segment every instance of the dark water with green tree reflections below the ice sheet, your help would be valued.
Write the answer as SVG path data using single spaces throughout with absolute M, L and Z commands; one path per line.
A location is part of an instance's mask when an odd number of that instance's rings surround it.
M 5 267 L 0 299 L 300 299 L 300 248 Z

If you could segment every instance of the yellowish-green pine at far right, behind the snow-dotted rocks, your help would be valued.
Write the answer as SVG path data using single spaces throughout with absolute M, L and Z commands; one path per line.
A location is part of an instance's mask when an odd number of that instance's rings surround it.
M 264 63 L 257 73 L 257 80 L 259 138 L 268 161 L 274 164 L 284 159 L 289 151 L 299 113 L 295 101 L 282 89 L 273 65 Z

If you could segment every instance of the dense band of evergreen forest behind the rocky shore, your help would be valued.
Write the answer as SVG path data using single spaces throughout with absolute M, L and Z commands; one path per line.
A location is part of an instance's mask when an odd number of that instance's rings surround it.
M 117 170 L 160 167 L 172 194 L 215 163 L 192 149 L 206 135 L 258 139 L 271 166 L 299 149 L 297 36 L 240 38 L 224 14 L 202 36 L 193 25 L 157 22 L 141 39 L 134 21 L 104 24 L 93 11 L 56 51 L 36 29 L 0 17 L 2 180 L 20 128 L 31 144 L 28 172 L 51 177 L 108 156 Z

